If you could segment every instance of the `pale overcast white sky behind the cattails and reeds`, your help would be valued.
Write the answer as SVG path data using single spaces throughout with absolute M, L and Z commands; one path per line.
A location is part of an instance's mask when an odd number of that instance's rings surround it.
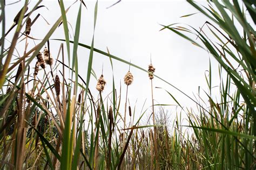
M 16 1 L 6 1 L 11 3 Z M 31 1 L 29 7 L 35 5 L 37 1 Z M 65 8 L 67 8 L 74 1 L 64 1 Z M 96 1 L 84 1 L 87 9 L 82 8 L 82 20 L 80 25 L 79 42 L 91 45 L 93 36 L 93 20 L 94 8 Z M 200 13 L 190 16 L 190 13 L 198 12 L 186 1 L 128 1 L 122 0 L 118 4 L 106 9 L 116 1 L 98 1 L 98 14 L 95 29 L 95 48 L 107 52 L 109 48 L 110 53 L 114 56 L 122 58 L 126 61 L 131 61 L 135 65 L 147 69 L 150 64 L 156 68 L 155 74 L 162 79 L 173 84 L 173 86 L 184 91 L 187 95 L 195 98 L 193 95 L 198 94 L 198 87 L 207 90 L 205 74 L 209 70 L 209 59 L 212 64 L 212 81 L 213 86 L 218 86 L 218 65 L 217 62 L 204 49 L 191 44 L 191 42 L 179 37 L 170 30 L 159 31 L 163 28 L 161 25 L 169 25 L 173 23 L 180 23 L 181 26 L 191 25 L 196 29 L 203 26 L 207 18 Z M 206 4 L 205 1 L 198 1 L 200 4 Z M 12 25 L 13 18 L 23 6 L 24 1 L 6 6 L 6 28 Z M 60 16 L 60 8 L 57 1 L 43 1 L 42 5 L 46 8 L 38 9 L 31 18 L 40 13 L 43 17 L 39 17 L 37 22 L 31 28 L 31 36 L 37 39 L 42 39 L 50 30 L 53 23 L 56 22 Z M 74 4 L 67 13 L 68 22 L 72 25 L 75 31 L 77 13 L 79 3 Z M 48 25 L 45 20 L 50 24 Z M 161 25 L 160 25 L 161 24 Z M 71 37 L 73 40 L 73 33 L 71 26 L 69 27 Z M 7 39 L 11 40 L 10 33 Z M 64 39 L 63 26 L 60 26 L 51 39 Z M 196 39 L 195 37 L 192 37 Z M 39 42 L 39 41 L 36 41 Z M 33 42 L 29 42 L 29 47 L 32 47 Z M 57 56 L 60 41 L 50 40 L 51 53 Z M 18 47 L 24 48 L 24 44 L 18 44 Z M 78 48 L 78 68 L 79 74 L 86 80 L 87 62 L 89 59 L 89 49 L 82 47 Z M 67 61 L 67 60 L 66 60 Z M 34 65 L 34 64 L 32 64 Z M 106 56 L 94 53 L 93 54 L 93 70 L 97 78 L 102 74 L 107 81 L 103 96 L 108 95 L 112 91 L 112 76 L 114 75 L 115 86 L 117 91 L 122 86 L 122 104 L 125 102 L 125 84 L 124 76 L 129 70 L 129 65 L 120 61 L 113 60 L 113 72 L 109 58 Z M 151 85 L 147 73 L 142 72 L 137 68 L 131 67 L 134 81 L 129 86 L 129 101 L 131 107 L 136 105 L 136 117 L 142 110 L 143 103 L 145 107 L 151 106 Z M 93 94 L 97 94 L 96 90 L 97 80 L 91 76 L 89 88 Z M 188 108 L 196 108 L 189 98 L 181 94 L 179 91 L 171 87 L 169 84 L 159 80 L 153 79 L 153 87 L 161 87 L 163 89 L 154 88 L 155 104 L 171 104 L 173 106 L 166 106 L 169 110 L 170 116 L 175 117 L 179 109 L 177 103 L 165 91 L 169 91 L 176 100 L 183 106 Z M 165 89 L 165 90 L 164 90 Z M 218 91 L 218 89 L 216 89 Z M 200 93 L 203 94 L 201 91 Z M 118 92 L 119 94 L 119 92 Z M 137 102 L 137 104 L 136 104 Z M 121 104 L 121 105 L 122 105 Z M 149 109 L 150 112 L 150 109 Z M 186 118 L 185 113 L 182 117 Z

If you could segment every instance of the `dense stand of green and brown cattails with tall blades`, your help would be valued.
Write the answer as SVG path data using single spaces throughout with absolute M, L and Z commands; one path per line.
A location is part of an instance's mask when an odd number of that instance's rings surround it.
M 5 30 L 5 2 L 1 1 L 1 57 L 0 57 L 0 159 L 2 169 L 255 169 L 256 168 L 256 92 L 255 92 L 255 3 L 244 1 L 208 2 L 208 7 L 188 1 L 208 17 L 200 29 L 171 24 L 164 26 L 194 45 L 208 51 L 219 62 L 219 98 L 212 96 L 211 62 L 208 102 L 195 100 L 198 110 L 186 110 L 188 127 L 178 116 L 170 123 L 164 109 L 155 111 L 153 98 L 152 63 L 145 70 L 108 52 L 79 43 L 81 10 L 79 1 L 75 37 L 69 38 L 68 20 L 63 1 L 59 1 L 62 15 L 42 40 L 31 49 L 30 32 L 38 17 L 32 14 L 44 8 L 39 1 L 31 9 L 28 1 L 14 18 L 14 24 Z M 95 4 L 95 24 L 97 20 Z M 191 15 L 186 15 L 186 17 Z M 65 39 L 59 53 L 52 56 L 51 35 L 61 25 Z M 237 27 L 242 27 L 240 32 Z M 13 29 L 16 29 L 15 31 Z M 214 38 L 210 39 L 209 34 Z M 6 36 L 14 31 L 9 47 Z M 196 36 L 196 38 L 191 38 Z M 61 42 L 65 41 L 66 46 Z M 24 54 L 14 59 L 17 42 L 24 43 Z M 73 55 L 71 46 L 73 45 Z M 86 80 L 78 73 L 78 46 L 90 49 Z M 43 52 L 42 52 L 43 50 Z M 65 51 L 65 53 L 64 53 Z M 43 54 L 44 58 L 43 58 Z M 113 90 L 105 98 L 103 73 L 93 95 L 89 89 L 93 53 L 129 65 L 125 75 L 126 100 L 120 109 L 121 94 L 112 80 Z M 57 53 L 57 52 L 56 52 Z M 68 62 L 64 59 L 68 57 Z M 62 60 L 59 60 L 62 58 Z M 36 64 L 32 64 L 35 62 Z M 67 64 L 68 63 L 68 64 Z M 35 67 L 32 67 L 35 66 Z M 130 123 L 126 121 L 128 87 L 132 86 L 130 66 L 149 74 L 152 94 L 153 124 L 143 124 L 142 113 L 134 122 L 134 111 L 129 104 Z M 16 69 L 16 70 L 15 70 Z M 31 72 L 31 70 L 33 71 Z M 69 72 L 69 74 L 66 74 Z M 58 74 L 57 74 L 58 73 Z M 125 73 L 124 73 L 125 74 Z M 171 83 L 161 79 L 170 86 Z M 169 93 L 169 92 L 168 92 Z M 170 96 L 177 102 L 171 93 Z M 199 96 L 200 98 L 200 96 Z M 201 104 L 201 103 L 204 103 Z M 181 107 L 184 111 L 185 109 Z M 86 119 L 85 119 L 86 118 Z M 149 118 L 151 119 L 151 117 Z M 149 121 L 149 120 L 148 120 Z M 192 131 L 185 131 L 189 128 Z

